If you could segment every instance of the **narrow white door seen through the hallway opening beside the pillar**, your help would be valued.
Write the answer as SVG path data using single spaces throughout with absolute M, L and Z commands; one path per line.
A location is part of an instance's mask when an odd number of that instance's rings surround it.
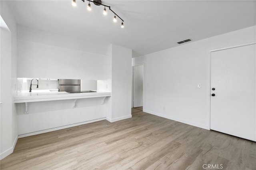
M 143 73 L 144 65 L 134 66 L 134 107 L 143 105 Z

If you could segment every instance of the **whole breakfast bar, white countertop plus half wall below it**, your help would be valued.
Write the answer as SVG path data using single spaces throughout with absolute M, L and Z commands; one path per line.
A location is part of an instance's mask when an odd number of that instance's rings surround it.
M 105 120 L 107 99 L 110 96 L 109 91 L 20 91 L 14 97 L 19 137 Z

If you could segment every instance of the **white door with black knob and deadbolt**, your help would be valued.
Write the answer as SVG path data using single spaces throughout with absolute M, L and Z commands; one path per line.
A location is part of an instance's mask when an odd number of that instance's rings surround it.
M 255 58 L 256 44 L 211 53 L 212 130 L 256 141 Z

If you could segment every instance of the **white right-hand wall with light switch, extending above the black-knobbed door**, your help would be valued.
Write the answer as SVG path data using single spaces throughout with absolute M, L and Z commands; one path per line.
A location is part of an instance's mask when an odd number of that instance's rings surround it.
M 145 63 L 144 111 L 210 129 L 209 51 L 255 41 L 253 26 L 133 58 Z

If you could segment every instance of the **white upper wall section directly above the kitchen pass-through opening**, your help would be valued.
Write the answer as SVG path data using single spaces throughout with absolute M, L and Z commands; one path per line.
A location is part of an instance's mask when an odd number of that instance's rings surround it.
M 106 79 L 107 46 L 18 26 L 18 77 Z

